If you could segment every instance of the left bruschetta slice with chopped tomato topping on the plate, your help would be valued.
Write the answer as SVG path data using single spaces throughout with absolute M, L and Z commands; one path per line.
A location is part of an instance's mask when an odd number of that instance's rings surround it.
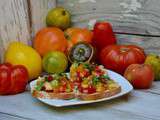
M 32 90 L 32 95 L 48 99 L 72 99 L 75 97 L 73 85 L 65 73 L 39 77 Z

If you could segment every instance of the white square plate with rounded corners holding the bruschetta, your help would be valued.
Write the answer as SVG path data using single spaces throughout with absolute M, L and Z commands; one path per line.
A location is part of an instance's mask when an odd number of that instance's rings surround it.
M 101 102 L 106 100 L 111 100 L 117 97 L 120 97 L 122 95 L 125 95 L 133 90 L 132 85 L 120 74 L 115 73 L 113 71 L 107 70 L 108 75 L 111 79 L 115 80 L 120 86 L 121 86 L 121 92 L 107 98 L 102 98 L 98 100 L 90 100 L 90 101 L 82 101 L 78 99 L 71 99 L 71 100 L 59 100 L 59 99 L 42 99 L 37 98 L 41 102 L 44 102 L 48 105 L 55 106 L 55 107 L 64 107 L 64 106 L 71 106 L 71 105 L 81 105 L 81 104 L 89 104 L 89 103 L 95 103 L 95 102 Z M 31 91 L 33 90 L 34 86 L 36 84 L 36 80 L 32 81 L 30 83 Z

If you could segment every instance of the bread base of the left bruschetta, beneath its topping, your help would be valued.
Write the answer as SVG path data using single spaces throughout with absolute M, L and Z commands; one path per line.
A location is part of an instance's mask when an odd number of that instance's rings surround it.
M 45 91 L 37 91 L 33 90 L 32 96 L 36 98 L 44 98 L 44 99 L 73 99 L 75 98 L 74 92 L 70 93 L 53 93 L 53 92 L 45 92 Z

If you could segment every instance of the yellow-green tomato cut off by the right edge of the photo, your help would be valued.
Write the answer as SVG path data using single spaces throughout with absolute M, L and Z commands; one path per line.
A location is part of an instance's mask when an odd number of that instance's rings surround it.
M 160 57 L 156 54 L 149 54 L 146 57 L 145 64 L 152 66 L 155 80 L 160 80 Z

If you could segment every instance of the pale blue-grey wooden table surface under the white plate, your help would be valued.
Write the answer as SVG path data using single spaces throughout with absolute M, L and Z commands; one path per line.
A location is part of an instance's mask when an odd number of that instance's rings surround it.
M 43 104 L 26 91 L 0 96 L 0 120 L 160 120 L 159 102 L 160 82 L 114 100 L 63 108 Z

